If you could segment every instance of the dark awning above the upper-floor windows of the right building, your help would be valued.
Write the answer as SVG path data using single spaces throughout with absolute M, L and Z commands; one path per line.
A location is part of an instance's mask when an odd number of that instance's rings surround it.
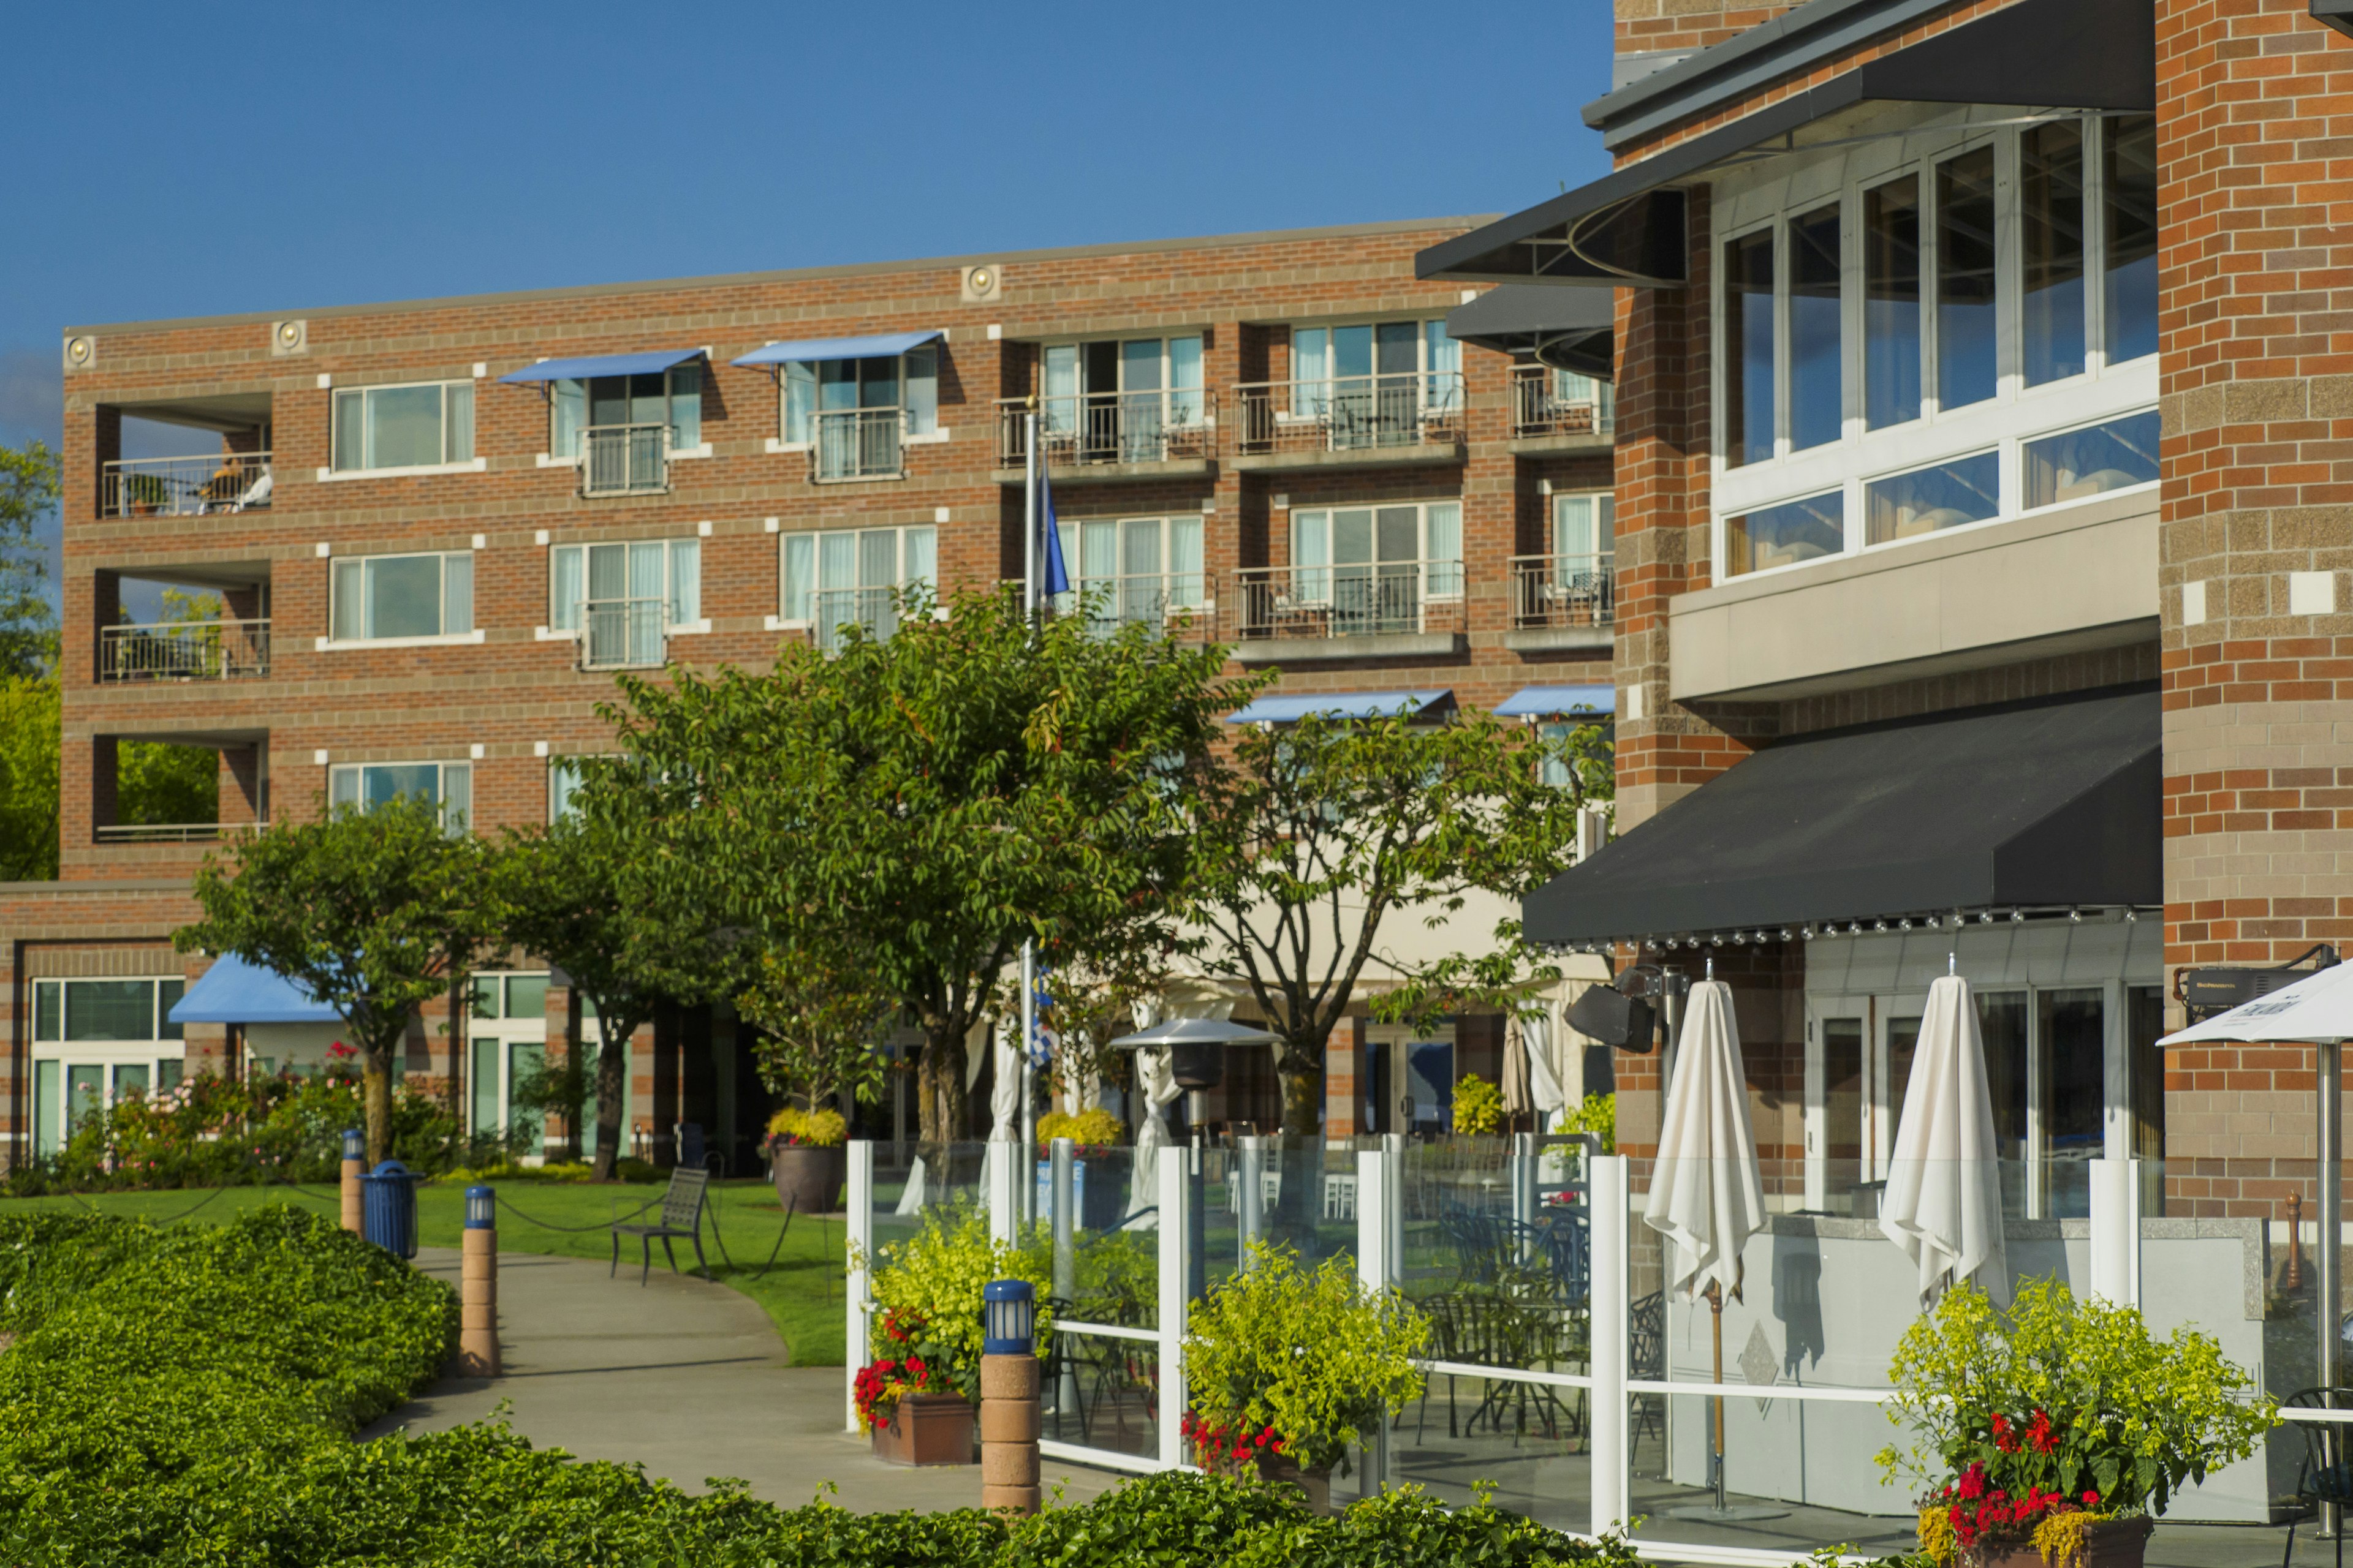
M 2155 14 L 2148 0 L 2017 0 L 1591 186 L 1433 244 L 1414 256 L 1414 275 L 1680 287 L 1685 214 L 1675 183 L 1866 101 L 2155 110 Z

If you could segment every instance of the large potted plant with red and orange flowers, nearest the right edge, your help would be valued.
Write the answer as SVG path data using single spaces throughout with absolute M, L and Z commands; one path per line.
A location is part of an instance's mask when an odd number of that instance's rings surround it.
M 1922 1481 L 1920 1549 L 1944 1568 L 2139 1568 L 2174 1493 L 2280 1422 L 2209 1335 L 2158 1340 L 2137 1309 L 2057 1279 L 2007 1312 L 1948 1291 L 1889 1378 L 1887 1418 L 1918 1441 L 1878 1462 Z

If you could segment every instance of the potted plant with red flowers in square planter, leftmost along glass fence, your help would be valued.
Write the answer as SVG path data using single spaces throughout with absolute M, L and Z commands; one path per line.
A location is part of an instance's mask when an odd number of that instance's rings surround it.
M 856 1375 L 859 1429 L 887 1465 L 969 1465 L 981 1399 L 981 1286 L 1028 1279 L 1038 1286 L 1038 1333 L 1052 1328 L 1045 1302 L 1052 1255 L 988 1237 L 979 1213 L 925 1211 L 922 1229 L 871 1262 L 875 1300 L 871 1361 Z

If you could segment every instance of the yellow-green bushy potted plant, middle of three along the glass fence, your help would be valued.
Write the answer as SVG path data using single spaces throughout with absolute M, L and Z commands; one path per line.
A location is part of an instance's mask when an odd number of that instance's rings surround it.
M 1249 1267 L 1209 1291 L 1186 1333 L 1193 1408 L 1184 1429 L 1202 1469 L 1254 1467 L 1332 1509 L 1332 1472 L 1381 1415 L 1421 1392 L 1414 1356 L 1431 1326 L 1395 1291 L 1367 1291 L 1346 1258 L 1306 1269 L 1257 1244 Z

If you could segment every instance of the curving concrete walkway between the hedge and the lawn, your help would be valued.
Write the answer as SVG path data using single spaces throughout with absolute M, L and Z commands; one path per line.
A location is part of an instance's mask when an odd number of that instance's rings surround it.
M 424 1248 L 416 1267 L 456 1284 L 454 1248 Z M 664 1272 L 638 1286 L 579 1258 L 499 1255 L 504 1378 L 445 1378 L 362 1436 L 398 1427 L 442 1432 L 487 1420 L 541 1448 L 584 1460 L 645 1465 L 687 1490 L 741 1476 L 753 1495 L 784 1507 L 809 1502 L 833 1481 L 849 1509 L 951 1509 L 981 1500 L 979 1465 L 901 1469 L 842 1432 L 842 1368 L 786 1361 L 784 1342 L 751 1300 L 706 1279 Z M 1075 1465 L 1045 1467 L 1080 1502 L 1120 1476 Z

